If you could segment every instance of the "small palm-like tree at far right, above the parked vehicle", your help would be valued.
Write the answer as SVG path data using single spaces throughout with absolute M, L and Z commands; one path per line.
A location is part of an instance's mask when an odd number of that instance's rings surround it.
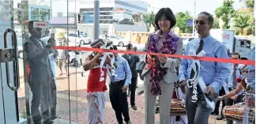
M 235 28 L 239 28 L 239 32 L 241 32 L 242 36 L 243 36 L 243 29 L 247 28 L 250 24 L 248 24 L 250 17 L 248 16 L 242 16 L 239 15 L 238 18 L 235 18 Z

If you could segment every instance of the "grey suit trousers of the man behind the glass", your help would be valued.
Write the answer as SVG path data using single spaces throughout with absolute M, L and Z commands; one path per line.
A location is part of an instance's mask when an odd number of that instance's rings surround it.
M 32 92 L 31 114 L 34 124 L 41 124 L 39 107 L 41 107 L 43 121 L 48 122 L 51 119 L 49 115 L 50 83 L 31 82 L 30 88 Z

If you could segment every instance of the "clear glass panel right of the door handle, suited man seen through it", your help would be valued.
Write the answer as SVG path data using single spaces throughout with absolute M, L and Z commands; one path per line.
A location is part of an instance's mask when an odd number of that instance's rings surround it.
M 60 5 L 62 9 L 58 9 Z M 73 41 L 68 36 L 76 29 L 74 18 L 68 16 L 71 6 L 66 1 L 17 2 L 20 14 L 17 14 L 15 31 L 21 36 L 17 39 L 21 65 L 18 109 L 20 117 L 27 118 L 28 122 L 65 124 L 77 120 L 77 104 L 73 102 L 76 100 L 73 92 L 77 91 L 74 86 L 77 54 L 54 49 L 55 45 L 79 45 L 76 41 L 80 40 Z M 64 17 L 59 17 L 58 13 Z

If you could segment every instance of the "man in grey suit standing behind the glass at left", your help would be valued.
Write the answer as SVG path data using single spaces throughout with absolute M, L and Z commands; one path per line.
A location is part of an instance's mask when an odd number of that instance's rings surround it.
M 47 44 L 40 39 L 42 28 L 34 27 L 39 24 L 38 21 L 28 22 L 28 31 L 31 36 L 24 43 L 24 51 L 27 54 L 30 68 L 28 83 L 32 92 L 31 114 L 34 124 L 41 124 L 41 115 L 43 124 L 51 124 L 53 121 L 49 115 L 49 99 L 54 76 L 48 55 L 51 54 L 51 47 L 55 46 L 55 42 Z M 39 107 L 41 107 L 42 114 L 40 114 Z

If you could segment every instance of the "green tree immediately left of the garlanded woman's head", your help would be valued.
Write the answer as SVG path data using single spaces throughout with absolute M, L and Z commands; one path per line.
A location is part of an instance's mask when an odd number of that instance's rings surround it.
M 156 28 L 156 24 L 155 24 L 155 17 L 156 14 L 151 12 L 151 13 L 147 13 L 147 14 L 142 14 L 143 17 L 143 21 L 147 26 L 148 32 L 149 32 L 149 28 L 151 27 L 151 25 Z

